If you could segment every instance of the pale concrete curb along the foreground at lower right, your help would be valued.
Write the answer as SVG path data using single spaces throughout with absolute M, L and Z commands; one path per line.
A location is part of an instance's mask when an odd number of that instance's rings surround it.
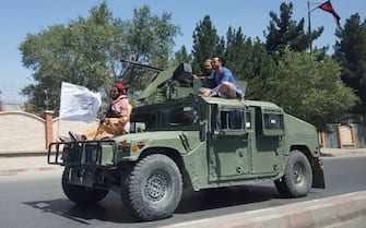
M 324 227 L 366 217 L 366 191 L 160 228 Z

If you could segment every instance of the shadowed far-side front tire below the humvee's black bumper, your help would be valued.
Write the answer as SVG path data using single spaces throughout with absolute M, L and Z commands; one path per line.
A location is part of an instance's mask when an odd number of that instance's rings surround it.
M 68 177 L 69 169 L 64 168 L 62 173 L 62 190 L 66 196 L 68 196 L 70 201 L 76 204 L 96 204 L 108 194 L 108 190 L 70 184 L 68 181 Z

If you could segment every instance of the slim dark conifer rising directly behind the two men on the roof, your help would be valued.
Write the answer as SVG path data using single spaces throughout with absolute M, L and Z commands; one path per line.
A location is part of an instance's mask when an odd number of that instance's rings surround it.
M 216 28 L 212 25 L 210 15 L 205 15 L 203 21 L 197 24 L 193 32 L 193 72 L 199 72 L 202 69 L 202 62 L 205 59 L 217 55 L 219 44 L 220 37 L 217 36 Z

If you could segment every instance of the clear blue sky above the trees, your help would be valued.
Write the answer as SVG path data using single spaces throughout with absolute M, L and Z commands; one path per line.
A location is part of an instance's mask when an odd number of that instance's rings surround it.
M 320 26 L 324 31 L 312 46 L 332 46 L 337 25 L 333 16 L 317 7 L 326 0 L 311 0 L 310 22 L 311 28 Z M 90 10 L 99 5 L 103 0 L 11 0 L 2 1 L 0 8 L 0 100 L 10 105 L 21 105 L 26 100 L 20 96 L 20 92 L 26 85 L 34 83 L 31 69 L 22 64 L 22 55 L 19 46 L 28 34 L 37 35 L 42 31 L 56 24 L 67 25 L 79 16 L 87 17 Z M 163 12 L 172 14 L 172 23 L 179 25 L 182 35 L 175 37 L 175 50 L 185 45 L 188 50 L 192 46 L 192 34 L 197 24 L 205 15 L 210 15 L 213 26 L 219 36 L 225 36 L 229 26 L 237 29 L 241 27 L 246 37 L 260 38 L 264 41 L 263 32 L 271 17 L 271 11 L 280 15 L 282 2 L 293 2 L 294 21 L 305 19 L 305 28 L 308 26 L 308 1 L 307 0 L 106 0 L 108 9 L 114 17 L 131 20 L 133 9 L 149 5 L 153 14 L 162 15 Z M 365 0 L 332 0 L 335 12 L 341 16 L 343 26 L 346 19 L 358 13 L 361 20 L 366 17 Z

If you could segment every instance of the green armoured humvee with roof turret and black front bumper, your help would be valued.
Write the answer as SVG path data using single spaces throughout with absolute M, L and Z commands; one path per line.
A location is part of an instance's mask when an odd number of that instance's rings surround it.
M 140 220 L 170 216 L 182 189 L 274 181 L 286 197 L 324 188 L 318 134 L 269 101 L 202 97 L 181 64 L 157 72 L 140 94 L 131 132 L 101 141 L 55 142 L 48 164 L 64 166 L 67 197 L 95 204 L 120 194 Z M 192 85 L 193 84 L 193 85 Z

